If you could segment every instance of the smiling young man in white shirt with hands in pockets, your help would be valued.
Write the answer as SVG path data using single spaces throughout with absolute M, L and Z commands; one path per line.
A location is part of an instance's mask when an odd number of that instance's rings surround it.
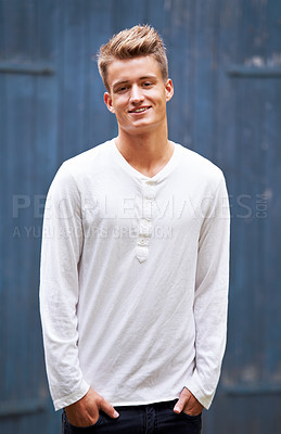
M 200 433 L 226 344 L 223 176 L 168 140 L 174 88 L 149 26 L 102 46 L 118 137 L 65 162 L 46 206 L 40 309 L 63 432 Z

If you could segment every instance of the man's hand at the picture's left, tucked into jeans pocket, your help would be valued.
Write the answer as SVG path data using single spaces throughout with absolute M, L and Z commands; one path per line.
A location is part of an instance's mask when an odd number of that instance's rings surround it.
M 100 410 L 114 419 L 119 416 L 113 406 L 92 388 L 77 403 L 65 408 L 68 422 L 84 427 L 98 422 Z

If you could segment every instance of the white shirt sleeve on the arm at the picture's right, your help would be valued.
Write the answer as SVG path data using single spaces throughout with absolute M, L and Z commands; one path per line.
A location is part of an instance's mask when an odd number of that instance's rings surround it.
M 187 388 L 208 409 L 226 347 L 230 213 L 221 174 L 199 240 L 194 296 L 195 369 Z

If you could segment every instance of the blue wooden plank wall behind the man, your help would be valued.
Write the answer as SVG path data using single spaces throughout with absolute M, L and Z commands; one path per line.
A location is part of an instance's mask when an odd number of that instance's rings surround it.
M 167 46 L 173 140 L 225 171 L 228 346 L 205 434 L 281 433 L 280 0 L 0 0 L 0 431 L 60 432 L 38 314 L 42 206 L 60 164 L 116 135 L 95 53 L 150 23 Z

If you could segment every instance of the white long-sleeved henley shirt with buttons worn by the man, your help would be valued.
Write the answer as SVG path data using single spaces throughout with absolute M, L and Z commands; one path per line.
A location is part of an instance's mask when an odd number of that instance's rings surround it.
M 208 408 L 226 345 L 229 206 L 222 173 L 174 143 L 152 178 L 111 140 L 48 193 L 40 312 L 54 407 L 91 386 L 113 406 L 179 397 Z

